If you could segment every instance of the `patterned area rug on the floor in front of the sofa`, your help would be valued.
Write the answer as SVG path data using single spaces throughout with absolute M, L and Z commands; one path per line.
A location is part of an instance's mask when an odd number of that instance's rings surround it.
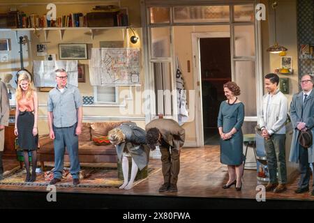
M 52 167 L 45 167 L 45 170 L 52 169 Z M 148 169 L 148 175 L 156 172 L 153 168 Z M 24 182 L 26 178 L 26 170 L 19 167 L 13 169 L 4 175 L 4 179 L 0 180 L 0 185 L 21 185 L 33 187 L 47 187 L 50 180 L 47 179 L 47 171 L 38 173 L 35 182 Z M 64 173 L 64 171 L 63 171 Z M 117 168 L 115 167 L 81 167 L 80 171 L 80 185 L 73 185 L 73 179 L 70 174 L 64 176 L 57 187 L 119 187 L 123 180 L 119 180 L 117 176 Z M 134 185 L 142 182 L 142 180 L 135 181 Z

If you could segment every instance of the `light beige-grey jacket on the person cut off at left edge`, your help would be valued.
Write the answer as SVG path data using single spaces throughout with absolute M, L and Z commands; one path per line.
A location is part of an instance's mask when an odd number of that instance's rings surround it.
M 9 99 L 8 99 L 8 90 L 6 89 L 6 84 L 0 81 L 0 125 L 8 126 L 9 118 Z

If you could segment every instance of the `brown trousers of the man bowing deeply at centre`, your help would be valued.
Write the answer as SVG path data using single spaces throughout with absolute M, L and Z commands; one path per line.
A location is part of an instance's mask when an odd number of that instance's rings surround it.
M 177 185 L 178 175 L 180 171 L 179 149 L 165 148 L 163 146 L 160 146 L 160 153 L 164 183 Z

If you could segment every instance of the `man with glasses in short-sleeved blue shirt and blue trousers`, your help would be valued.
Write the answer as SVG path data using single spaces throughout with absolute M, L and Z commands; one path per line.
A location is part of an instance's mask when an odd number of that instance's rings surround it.
M 73 184 L 80 183 L 78 135 L 82 132 L 82 97 L 76 86 L 67 84 L 66 70 L 56 72 L 57 86 L 49 92 L 48 125 L 50 139 L 54 139 L 54 178 L 50 185 L 61 181 L 65 149 L 70 157 Z

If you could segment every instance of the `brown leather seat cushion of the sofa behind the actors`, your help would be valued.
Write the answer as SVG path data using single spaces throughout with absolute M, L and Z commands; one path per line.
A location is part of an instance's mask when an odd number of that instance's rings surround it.
M 114 146 L 95 146 L 93 141 L 79 141 L 79 155 L 117 155 L 116 148 Z M 53 141 L 45 144 L 38 153 L 41 154 L 53 154 L 54 144 Z M 68 154 L 68 151 L 66 151 Z

